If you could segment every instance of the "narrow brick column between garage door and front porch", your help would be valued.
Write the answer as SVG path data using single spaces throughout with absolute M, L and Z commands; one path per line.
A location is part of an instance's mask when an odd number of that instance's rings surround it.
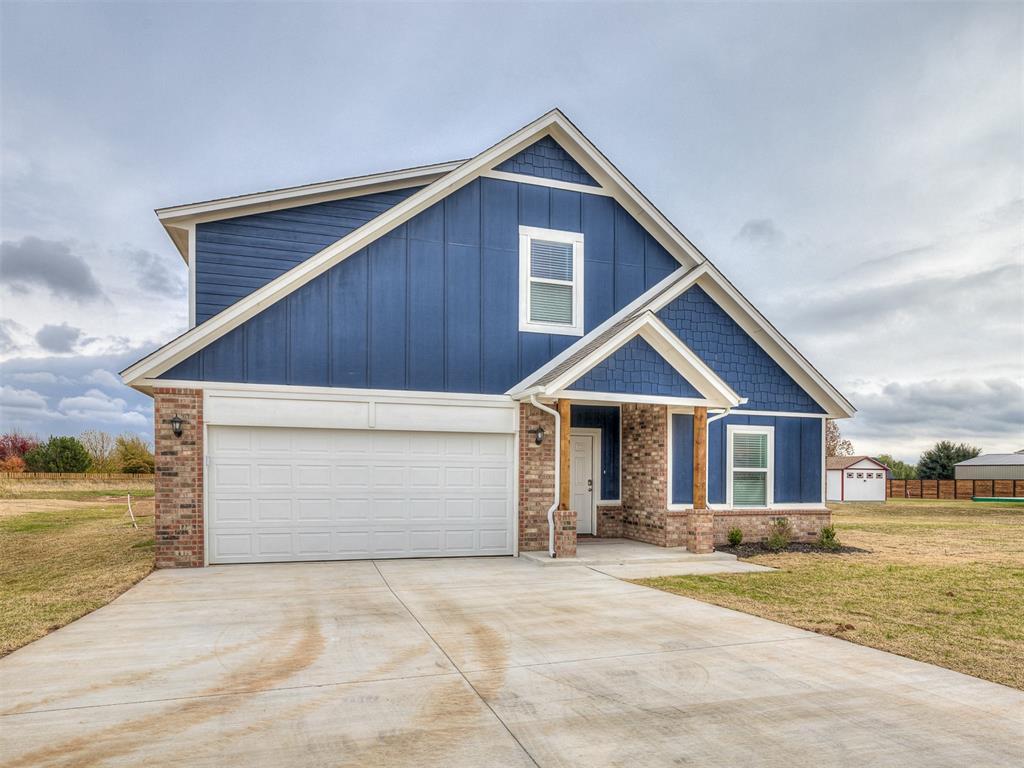
M 537 444 L 527 430 L 542 427 Z M 548 548 L 548 509 L 555 499 L 555 419 L 528 402 L 519 404 L 519 549 Z

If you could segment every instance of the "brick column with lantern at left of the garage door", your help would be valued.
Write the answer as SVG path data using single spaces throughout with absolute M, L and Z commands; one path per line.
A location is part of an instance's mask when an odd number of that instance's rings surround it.
M 158 568 L 203 565 L 203 391 L 157 388 L 156 544 Z M 170 420 L 183 422 L 175 437 Z

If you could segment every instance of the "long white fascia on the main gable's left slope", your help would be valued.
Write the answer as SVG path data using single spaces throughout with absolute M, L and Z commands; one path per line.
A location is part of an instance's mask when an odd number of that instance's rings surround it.
M 494 146 L 484 150 L 472 160 L 466 161 L 433 183 L 411 195 L 401 203 L 384 211 L 358 229 L 332 243 L 319 253 L 240 299 L 201 326 L 182 334 L 138 362 L 129 366 L 121 372 L 122 380 L 125 384 L 132 386 L 139 379 L 156 377 L 173 368 L 188 355 L 238 328 L 253 315 L 339 264 L 369 243 L 383 237 L 413 216 L 425 211 L 438 200 L 468 184 L 477 178 L 482 171 L 528 146 L 539 136 L 546 135 L 548 129 L 558 120 L 564 121 L 564 117 L 560 112 L 554 110 L 520 128 Z

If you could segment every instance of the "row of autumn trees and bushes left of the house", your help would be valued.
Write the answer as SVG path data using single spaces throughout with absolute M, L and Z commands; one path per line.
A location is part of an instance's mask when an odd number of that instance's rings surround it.
M 89 430 L 43 441 L 17 431 L 0 435 L 0 472 L 152 474 L 153 446 L 134 434 Z

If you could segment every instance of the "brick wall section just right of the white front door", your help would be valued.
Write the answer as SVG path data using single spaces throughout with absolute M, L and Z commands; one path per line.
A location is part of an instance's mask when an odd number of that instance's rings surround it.
M 665 406 L 623 404 L 623 536 L 679 546 L 666 530 L 669 499 L 669 421 Z M 676 536 L 672 537 L 676 539 Z

